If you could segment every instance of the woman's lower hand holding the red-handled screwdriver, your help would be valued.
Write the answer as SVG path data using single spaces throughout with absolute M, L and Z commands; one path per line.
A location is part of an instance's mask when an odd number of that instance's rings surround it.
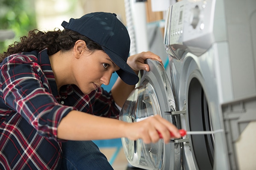
M 140 122 L 128 123 L 126 126 L 125 136 L 128 139 L 142 139 L 145 144 L 156 143 L 160 139 L 159 133 L 163 136 L 165 143 L 169 143 L 172 139 L 170 132 L 175 138 L 181 137 L 177 127 L 159 115 L 148 117 Z

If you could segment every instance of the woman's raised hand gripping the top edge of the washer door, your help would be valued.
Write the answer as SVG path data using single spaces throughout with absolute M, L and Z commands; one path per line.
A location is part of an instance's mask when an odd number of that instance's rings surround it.
M 162 59 L 150 51 L 141 52 L 128 57 L 127 64 L 136 72 L 140 70 L 149 71 L 149 66 L 145 64 L 145 59 L 155 59 L 161 62 L 163 65 Z

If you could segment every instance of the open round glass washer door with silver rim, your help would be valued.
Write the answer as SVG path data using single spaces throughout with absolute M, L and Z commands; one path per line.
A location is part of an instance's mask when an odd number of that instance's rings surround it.
M 147 59 L 150 71 L 143 72 L 140 86 L 131 92 L 125 102 L 119 119 L 125 122 L 139 122 L 153 115 L 160 115 L 177 127 L 175 100 L 166 71 L 160 62 Z M 146 170 L 179 170 L 180 144 L 170 141 L 164 144 L 163 139 L 157 143 L 145 144 L 141 139 L 136 141 L 122 138 L 122 145 L 128 162 L 134 167 Z

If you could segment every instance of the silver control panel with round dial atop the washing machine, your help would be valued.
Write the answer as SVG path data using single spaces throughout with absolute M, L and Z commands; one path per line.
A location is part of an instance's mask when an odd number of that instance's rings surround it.
M 224 16 L 224 11 L 215 9 L 215 3 L 215 0 L 182 0 L 168 8 L 164 45 L 169 55 L 180 59 L 185 51 L 189 51 L 200 56 L 213 42 L 226 39 L 222 35 L 225 33 L 215 29 L 216 25 L 225 26 L 215 19 L 215 12 Z

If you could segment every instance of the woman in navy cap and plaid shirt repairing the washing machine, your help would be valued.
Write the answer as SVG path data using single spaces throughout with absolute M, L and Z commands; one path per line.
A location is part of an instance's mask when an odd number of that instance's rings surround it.
M 0 169 L 108 170 L 91 140 L 157 142 L 157 130 L 166 143 L 169 131 L 180 137 L 160 116 L 118 120 L 138 71 L 149 71 L 145 59 L 161 59 L 151 52 L 128 57 L 128 31 L 115 14 L 90 13 L 61 25 L 63 31 L 30 31 L 0 56 Z M 120 78 L 108 93 L 100 86 L 115 71 Z

